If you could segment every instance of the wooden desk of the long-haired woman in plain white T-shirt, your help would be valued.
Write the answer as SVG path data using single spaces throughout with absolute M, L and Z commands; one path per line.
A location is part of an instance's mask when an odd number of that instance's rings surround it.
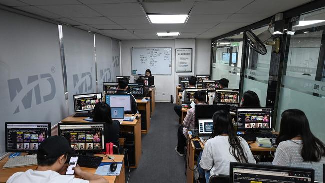
M 189 138 L 191 138 L 191 137 L 192 136 L 189 135 Z M 195 149 L 193 141 L 199 141 L 202 149 Z M 186 162 L 188 162 L 188 164 L 186 166 L 186 180 L 187 180 L 186 182 L 193 183 L 194 182 L 194 171 L 192 171 L 191 169 L 194 169 L 194 165 L 197 165 L 197 162 L 194 160 L 194 157 L 195 157 L 195 154 L 199 154 L 200 151 L 204 149 L 204 144 L 200 141 L 200 139 L 198 137 L 193 138 L 187 142 L 188 143 L 187 143 Z M 250 141 L 247 143 L 249 144 Z M 250 144 L 250 146 L 251 146 L 250 150 L 254 155 L 260 154 L 260 153 L 265 153 L 265 152 L 268 153 L 271 151 L 271 148 L 259 147 L 256 142 Z M 272 150 L 274 150 L 274 148 Z

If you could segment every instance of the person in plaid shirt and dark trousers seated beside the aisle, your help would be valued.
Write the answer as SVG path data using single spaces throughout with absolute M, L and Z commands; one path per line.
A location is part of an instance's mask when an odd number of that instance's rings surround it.
M 194 93 L 194 102 L 196 105 L 207 105 L 205 103 L 206 98 L 206 92 L 205 91 L 196 91 Z M 178 143 L 175 148 L 176 152 L 180 156 L 184 156 L 184 148 L 186 145 L 186 138 L 188 137 L 187 130 L 195 128 L 195 108 L 191 108 L 187 111 L 186 117 L 182 123 L 182 125 L 179 126 L 177 137 L 178 137 Z

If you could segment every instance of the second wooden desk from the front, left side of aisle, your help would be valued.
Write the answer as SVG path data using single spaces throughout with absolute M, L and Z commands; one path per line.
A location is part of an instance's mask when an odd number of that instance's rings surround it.
M 126 116 L 131 116 L 130 114 L 126 114 Z M 127 133 L 133 133 L 134 134 L 134 151 L 135 151 L 135 165 L 131 165 L 130 168 L 137 168 L 141 155 L 142 155 L 142 136 L 141 136 L 141 115 L 138 115 L 140 119 L 134 119 L 133 121 L 123 121 L 123 123 L 120 125 L 120 132 L 127 132 Z M 65 119 L 63 119 L 61 122 L 63 123 L 71 123 L 71 122 L 84 122 L 89 123 L 88 121 L 85 121 L 86 117 L 72 117 L 68 116 Z M 128 153 L 128 156 L 131 154 Z

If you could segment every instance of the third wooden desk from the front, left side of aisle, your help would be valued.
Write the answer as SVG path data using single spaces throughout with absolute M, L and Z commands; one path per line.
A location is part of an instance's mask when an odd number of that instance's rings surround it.
M 151 123 L 150 115 L 150 98 L 148 101 L 136 100 L 137 110 L 141 114 L 141 132 L 143 134 L 148 134 Z

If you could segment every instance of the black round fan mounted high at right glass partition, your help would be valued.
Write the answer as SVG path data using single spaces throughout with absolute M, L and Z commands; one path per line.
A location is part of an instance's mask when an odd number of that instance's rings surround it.
M 264 44 L 271 45 L 275 48 L 274 52 L 280 52 L 280 38 L 275 37 L 273 41 L 268 41 L 272 37 L 272 33 L 269 30 L 266 30 L 259 35 L 255 35 L 253 32 L 246 30 L 244 32 L 247 43 L 259 54 L 265 55 L 267 49 Z

